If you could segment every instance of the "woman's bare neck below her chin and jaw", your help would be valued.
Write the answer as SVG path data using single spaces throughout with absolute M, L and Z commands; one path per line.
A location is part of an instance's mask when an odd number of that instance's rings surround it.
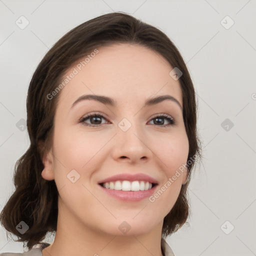
M 54 242 L 42 250 L 43 256 L 162 256 L 162 221 L 146 234 L 111 235 L 85 225 L 71 214 L 58 214 Z M 130 230 L 131 231 L 131 230 Z

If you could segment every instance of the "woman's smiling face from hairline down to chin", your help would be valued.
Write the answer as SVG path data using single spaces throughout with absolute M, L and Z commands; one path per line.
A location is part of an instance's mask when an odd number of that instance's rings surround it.
M 169 75 L 173 67 L 146 47 L 112 44 L 97 49 L 86 64 L 78 61 L 66 72 L 68 82 L 58 92 L 53 146 L 44 161 L 49 171 L 43 170 L 42 176 L 54 178 L 58 221 L 66 221 L 70 228 L 82 225 L 112 235 L 161 232 L 163 218 L 186 180 L 185 172 L 176 172 L 188 156 L 179 82 Z M 115 105 L 76 101 L 88 94 L 112 98 Z M 170 95 L 179 103 L 165 99 L 144 106 L 160 95 Z M 89 114 L 96 117 L 83 118 Z M 114 182 L 116 190 L 99 184 L 116 174 L 137 173 L 150 176 L 157 185 L 139 192 L 118 190 Z M 143 189 L 140 180 L 147 178 L 134 179 L 139 182 L 124 183 Z M 118 184 L 126 189 L 124 183 Z

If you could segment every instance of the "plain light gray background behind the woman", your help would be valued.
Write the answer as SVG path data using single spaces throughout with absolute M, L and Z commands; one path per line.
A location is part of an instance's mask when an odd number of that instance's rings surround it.
M 29 145 L 16 123 L 26 119 L 37 64 L 68 30 L 112 11 L 133 13 L 170 37 L 199 99 L 204 159 L 190 183 L 190 226 L 167 242 L 175 255 L 256 255 L 255 0 L 0 0 L 0 209 L 14 189 L 15 161 Z M 24 29 L 15 24 L 21 15 L 29 21 Z M 234 21 L 229 29 L 222 25 L 227 18 L 221 24 L 226 15 Z M 227 131 L 226 118 L 234 124 Z M 21 252 L 22 243 L 8 242 L 1 228 L 6 251 Z

